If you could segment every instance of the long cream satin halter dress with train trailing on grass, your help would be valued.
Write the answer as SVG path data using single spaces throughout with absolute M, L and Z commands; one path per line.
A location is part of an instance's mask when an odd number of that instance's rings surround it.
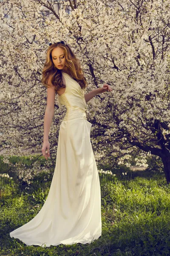
M 28 223 L 10 233 L 27 245 L 91 243 L 102 235 L 99 173 L 86 118 L 85 90 L 67 73 L 58 96 L 66 114 L 59 128 L 54 175 L 46 201 Z

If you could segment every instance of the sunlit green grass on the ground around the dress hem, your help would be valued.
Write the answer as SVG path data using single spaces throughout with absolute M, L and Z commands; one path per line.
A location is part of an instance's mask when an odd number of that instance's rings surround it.
M 0 256 L 170 255 L 170 185 L 164 174 L 130 172 L 125 167 L 113 169 L 113 173 L 116 176 L 99 173 L 102 236 L 91 244 L 46 248 L 27 246 L 9 233 L 40 211 L 49 192 L 51 173 L 35 176 L 29 189 L 17 177 L 1 179 Z

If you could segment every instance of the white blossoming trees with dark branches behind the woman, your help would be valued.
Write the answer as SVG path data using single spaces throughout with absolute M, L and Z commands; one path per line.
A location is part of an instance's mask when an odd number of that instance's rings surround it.
M 86 93 L 105 82 L 113 89 L 87 103 L 96 162 L 107 158 L 130 166 L 130 157 L 142 154 L 144 165 L 148 154 L 156 155 L 170 183 L 170 0 L 4 0 L 0 5 L 2 148 L 19 155 L 41 148 L 45 52 L 49 42 L 63 40 L 81 61 Z M 64 114 L 56 102 L 51 152 Z

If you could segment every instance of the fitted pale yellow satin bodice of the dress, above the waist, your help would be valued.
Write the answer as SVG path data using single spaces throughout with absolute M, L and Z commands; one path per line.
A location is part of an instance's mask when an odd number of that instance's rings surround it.
M 57 94 L 59 108 L 65 105 L 67 112 L 63 121 L 68 121 L 74 118 L 86 119 L 86 102 L 85 89 L 82 89 L 77 81 L 75 81 L 67 73 L 62 72 L 65 79 L 65 92 L 62 95 Z

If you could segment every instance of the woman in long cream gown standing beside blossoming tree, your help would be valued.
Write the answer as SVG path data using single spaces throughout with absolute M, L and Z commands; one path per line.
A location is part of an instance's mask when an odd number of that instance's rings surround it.
M 54 115 L 57 92 L 59 108 L 67 112 L 59 128 L 56 166 L 47 199 L 40 212 L 10 233 L 27 245 L 49 247 L 58 244 L 91 243 L 102 234 L 99 174 L 90 140 L 91 123 L 86 102 L 108 84 L 85 95 L 87 87 L 80 63 L 63 41 L 51 44 L 42 70 L 47 87 L 42 154 L 50 157 L 48 133 Z M 47 150 L 47 151 L 46 151 Z

